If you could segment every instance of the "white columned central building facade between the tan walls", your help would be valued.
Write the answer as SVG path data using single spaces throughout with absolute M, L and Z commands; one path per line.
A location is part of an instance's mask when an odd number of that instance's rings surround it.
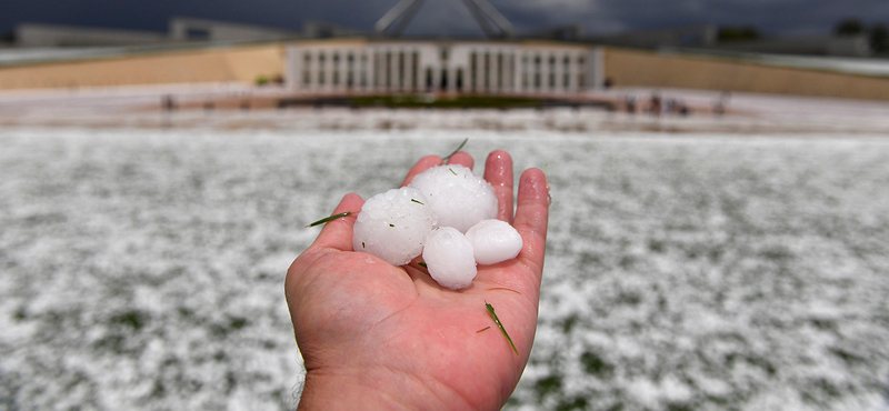
M 288 46 L 284 80 L 307 93 L 578 93 L 602 86 L 602 56 L 541 41 L 310 40 Z

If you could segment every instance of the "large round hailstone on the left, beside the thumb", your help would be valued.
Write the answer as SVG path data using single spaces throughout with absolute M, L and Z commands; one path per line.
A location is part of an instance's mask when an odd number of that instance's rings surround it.
M 352 247 L 392 265 L 403 265 L 423 251 L 426 235 L 436 227 L 432 209 L 420 191 L 402 187 L 371 197 L 354 222 Z

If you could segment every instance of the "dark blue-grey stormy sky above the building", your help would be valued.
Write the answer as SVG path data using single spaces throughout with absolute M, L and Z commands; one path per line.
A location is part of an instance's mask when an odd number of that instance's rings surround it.
M 489 0 L 519 32 L 581 24 L 588 33 L 701 23 L 753 24 L 765 32 L 829 32 L 842 18 L 889 22 L 885 0 Z M 166 31 L 170 17 L 299 30 L 321 20 L 371 30 L 398 0 L 3 0 L 0 32 L 20 22 Z M 461 0 L 427 0 L 413 34 L 480 34 Z

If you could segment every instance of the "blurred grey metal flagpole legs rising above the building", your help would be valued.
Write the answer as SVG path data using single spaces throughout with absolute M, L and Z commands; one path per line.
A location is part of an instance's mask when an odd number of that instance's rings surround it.
M 392 24 L 401 19 L 398 24 L 389 32 L 389 34 L 399 37 L 401 32 L 404 31 L 404 28 L 408 27 L 413 17 L 417 16 L 417 11 L 420 10 L 420 7 L 423 4 L 426 0 L 401 0 L 391 8 L 389 11 L 383 14 L 380 20 L 373 24 L 373 31 L 378 34 L 386 33 Z M 476 19 L 479 27 L 485 34 L 489 38 L 510 38 L 513 34 L 512 23 L 507 20 L 503 14 L 500 14 L 497 9 L 491 6 L 487 0 L 462 0 L 463 4 L 469 12 L 472 14 L 472 18 Z M 499 29 L 499 31 L 498 31 Z

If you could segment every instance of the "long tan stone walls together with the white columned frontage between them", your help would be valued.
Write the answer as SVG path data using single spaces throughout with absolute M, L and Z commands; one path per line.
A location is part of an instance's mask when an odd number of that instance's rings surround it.
M 889 78 L 546 41 L 303 40 L 0 66 L 0 90 L 281 77 L 294 92 L 571 93 L 681 88 L 889 100 Z

